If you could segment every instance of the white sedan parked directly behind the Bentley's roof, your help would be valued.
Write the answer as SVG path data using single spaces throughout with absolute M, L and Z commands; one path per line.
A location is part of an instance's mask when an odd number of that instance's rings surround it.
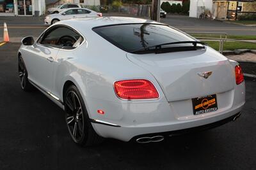
M 102 17 L 102 13 L 98 13 L 87 8 L 70 8 L 60 13 L 47 15 L 44 19 L 46 25 L 55 24 L 60 20 L 70 20 L 75 18 L 86 18 L 86 17 Z

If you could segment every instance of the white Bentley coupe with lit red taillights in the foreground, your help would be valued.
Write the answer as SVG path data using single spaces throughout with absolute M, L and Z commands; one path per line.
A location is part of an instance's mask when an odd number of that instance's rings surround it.
M 244 106 L 239 64 L 166 24 L 99 17 L 22 39 L 20 85 L 65 111 L 75 143 L 149 143 L 225 124 Z

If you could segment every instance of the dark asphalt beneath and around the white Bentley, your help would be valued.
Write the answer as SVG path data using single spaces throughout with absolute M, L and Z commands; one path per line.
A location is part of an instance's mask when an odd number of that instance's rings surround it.
M 246 80 L 246 105 L 236 122 L 161 143 L 79 148 L 63 111 L 39 91 L 23 92 L 19 43 L 0 46 L 0 169 L 255 169 L 256 81 Z

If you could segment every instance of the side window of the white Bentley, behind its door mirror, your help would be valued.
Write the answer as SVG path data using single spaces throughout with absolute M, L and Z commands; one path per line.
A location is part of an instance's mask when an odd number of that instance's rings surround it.
M 45 32 L 40 44 L 55 48 L 74 49 L 83 42 L 83 37 L 67 27 L 55 27 Z

